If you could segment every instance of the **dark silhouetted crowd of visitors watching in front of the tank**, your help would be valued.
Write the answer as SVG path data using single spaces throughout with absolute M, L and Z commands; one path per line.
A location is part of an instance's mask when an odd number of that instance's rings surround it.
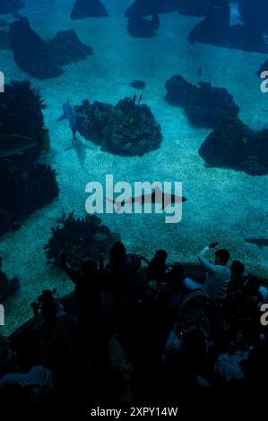
M 64 249 L 74 294 L 61 301 L 45 290 L 31 304 L 28 358 L 0 335 L 0 402 L 164 402 L 188 388 L 259 385 L 265 286 L 217 243 L 194 269 L 168 257 L 158 250 L 149 261 L 117 242 L 106 265 L 73 268 Z

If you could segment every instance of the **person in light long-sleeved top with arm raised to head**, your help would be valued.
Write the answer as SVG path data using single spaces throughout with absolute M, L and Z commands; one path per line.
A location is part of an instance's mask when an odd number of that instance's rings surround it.
M 215 263 L 206 259 L 206 253 L 214 248 L 217 243 L 212 243 L 197 255 L 199 262 L 202 264 L 206 272 L 204 284 L 200 284 L 193 279 L 186 278 L 185 286 L 188 289 L 202 289 L 203 294 L 212 303 L 219 302 L 227 296 L 227 288 L 229 286 L 231 271 L 226 266 L 229 262 L 229 251 L 226 249 L 217 250 L 215 253 Z

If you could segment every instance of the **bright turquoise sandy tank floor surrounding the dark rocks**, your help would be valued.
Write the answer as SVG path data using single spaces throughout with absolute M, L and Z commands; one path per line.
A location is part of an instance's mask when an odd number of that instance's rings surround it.
M 53 150 L 44 159 L 56 169 L 60 187 L 56 201 L 31 215 L 21 230 L 0 238 L 4 271 L 8 276 L 18 276 L 22 285 L 5 303 L 5 333 L 30 317 L 30 302 L 43 288 L 57 288 L 60 295 L 73 288 L 65 274 L 48 266 L 43 245 L 51 235 L 53 219 L 63 210 L 74 210 L 77 216 L 85 214 L 85 185 L 93 180 L 104 183 L 106 174 L 113 174 L 116 182 L 183 183 L 187 202 L 179 224 L 165 224 L 164 216 L 155 214 L 101 217 L 112 231 L 121 233 L 128 251 L 151 257 L 158 248 L 165 248 L 169 262 L 192 262 L 203 245 L 219 241 L 229 249 L 232 259 L 242 260 L 249 271 L 268 278 L 268 248 L 260 250 L 244 241 L 248 236 L 267 237 L 267 176 L 204 168 L 197 151 L 210 131 L 189 125 L 184 111 L 169 106 L 164 99 L 165 82 L 171 75 L 181 73 L 188 81 L 198 82 L 197 71 L 202 66 L 203 81 L 226 87 L 240 107 L 241 119 L 253 128 L 264 128 L 268 122 L 261 109 L 267 107 L 268 95 L 260 91 L 256 70 L 267 57 L 208 45 L 191 46 L 187 35 L 199 20 L 177 13 L 160 16 L 157 37 L 133 39 L 126 33 L 123 13 L 132 0 L 103 3 L 108 18 L 71 21 L 73 0 L 24 0 L 27 7 L 22 14 L 29 17 L 32 28 L 43 39 L 52 38 L 57 30 L 75 29 L 94 50 L 87 60 L 65 66 L 59 78 L 34 80 L 17 67 L 12 52 L 0 54 L 0 70 L 6 82 L 30 79 L 47 103 L 46 124 Z M 68 96 L 73 104 L 82 103 L 82 99 L 115 104 L 134 95 L 129 86 L 120 85 L 134 79 L 147 82 L 143 101 L 160 122 L 164 137 L 160 150 L 143 158 L 125 158 L 92 145 L 83 170 L 74 150 L 65 151 L 71 143 L 68 125 L 56 123 L 62 103 Z

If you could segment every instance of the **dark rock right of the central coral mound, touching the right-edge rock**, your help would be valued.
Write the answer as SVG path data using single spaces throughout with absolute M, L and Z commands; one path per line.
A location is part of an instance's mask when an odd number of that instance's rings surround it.
M 239 108 L 225 88 L 213 88 L 199 82 L 198 87 L 180 75 L 166 82 L 166 99 L 171 105 L 183 107 L 192 125 L 214 127 L 224 116 L 238 116 Z

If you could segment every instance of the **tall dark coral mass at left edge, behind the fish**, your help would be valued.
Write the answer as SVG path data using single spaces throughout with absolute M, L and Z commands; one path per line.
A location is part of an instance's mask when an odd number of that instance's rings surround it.
M 28 136 L 34 141 L 44 131 L 44 107 L 39 90 L 29 81 L 11 82 L 0 96 L 0 235 L 19 228 L 18 221 L 51 202 L 59 192 L 55 171 L 36 163 L 39 142 L 26 150 L 18 147 L 18 140 L 23 142 Z

